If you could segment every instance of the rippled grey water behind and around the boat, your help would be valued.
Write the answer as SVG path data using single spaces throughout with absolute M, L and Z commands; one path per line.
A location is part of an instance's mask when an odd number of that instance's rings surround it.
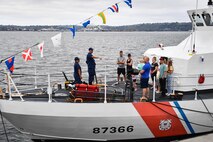
M 35 68 L 38 75 L 38 85 L 47 85 L 47 73 L 51 74 L 51 83 L 64 82 L 62 71 L 69 79 L 72 79 L 74 57 L 81 59 L 83 80 L 87 81 L 87 66 L 85 63 L 89 47 L 94 48 L 94 55 L 101 57 L 96 60 L 97 76 L 103 81 L 105 65 L 108 80 L 116 79 L 116 59 L 119 51 L 123 50 L 125 57 L 132 54 L 134 64 L 137 65 L 144 51 L 148 48 L 157 47 L 159 43 L 165 46 L 177 45 L 185 39 L 189 32 L 87 32 L 77 33 L 73 40 L 69 32 L 63 33 L 62 47 L 55 48 L 50 38 L 57 32 L 0 32 L 0 59 L 6 58 L 16 52 L 22 51 L 37 42 L 45 42 L 44 58 L 40 58 L 37 47 L 32 48 L 33 61 L 25 62 L 21 54 L 15 57 L 14 81 L 19 89 L 34 87 Z M 0 69 L 5 68 L 4 63 Z M 4 76 L 0 74 L 0 81 Z M 4 82 L 4 81 L 3 81 Z M 23 85 L 28 84 L 28 85 Z M 2 88 L 5 84 L 0 82 Z M 11 141 L 31 142 L 31 140 L 20 134 L 8 121 L 6 128 Z M 0 142 L 5 141 L 2 123 L 0 122 Z

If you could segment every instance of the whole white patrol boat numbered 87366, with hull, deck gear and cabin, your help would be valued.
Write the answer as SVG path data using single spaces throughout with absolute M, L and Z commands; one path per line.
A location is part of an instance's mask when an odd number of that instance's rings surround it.
M 212 1 L 209 1 L 209 8 L 190 10 L 188 14 L 194 31 L 187 39 L 176 47 L 149 49 L 145 55 L 171 57 L 179 85 L 175 90 L 192 91 L 196 88 L 195 95 L 179 94 L 156 99 L 155 95 L 159 94 L 153 91 L 152 101 L 139 102 L 141 90 L 132 91 L 131 80 L 117 86 L 110 82 L 74 86 L 68 82 L 66 89 L 59 87 L 56 90 L 51 89 L 49 81 L 47 90 L 36 89 L 30 93 L 18 92 L 15 88 L 20 99 L 9 91 L 9 96 L 0 100 L 2 115 L 33 140 L 179 139 L 212 132 L 212 92 L 197 92 L 197 89 L 213 88 L 209 85 L 213 82 L 210 75 L 213 62 Z M 200 74 L 206 77 L 202 85 L 197 83 Z M 10 89 L 12 78 L 7 77 Z M 33 93 L 35 97 L 32 97 Z M 59 97 L 59 94 L 64 95 Z

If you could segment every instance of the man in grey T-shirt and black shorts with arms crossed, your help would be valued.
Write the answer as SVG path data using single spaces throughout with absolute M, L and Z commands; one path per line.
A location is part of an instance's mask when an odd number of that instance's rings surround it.
M 124 76 L 124 81 L 126 81 L 126 71 L 125 71 L 125 58 L 123 57 L 123 51 L 120 51 L 120 57 L 117 59 L 117 74 L 118 74 L 118 83 L 120 81 L 120 75 L 123 74 Z

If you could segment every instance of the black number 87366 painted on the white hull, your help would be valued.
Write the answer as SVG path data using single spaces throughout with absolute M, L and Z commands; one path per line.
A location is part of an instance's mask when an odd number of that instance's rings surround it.
M 131 133 L 134 131 L 134 126 L 128 126 L 128 127 L 125 127 L 125 126 L 120 126 L 120 127 L 96 127 L 96 128 L 93 128 L 93 133 L 94 134 L 100 134 L 100 133 L 125 133 L 125 132 L 128 132 L 128 133 Z

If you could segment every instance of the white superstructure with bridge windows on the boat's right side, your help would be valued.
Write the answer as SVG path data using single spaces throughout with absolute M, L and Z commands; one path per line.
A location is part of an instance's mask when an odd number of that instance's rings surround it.
M 213 7 L 189 10 L 188 15 L 193 31 L 184 41 L 177 46 L 149 49 L 145 55 L 173 59 L 175 90 L 213 89 Z M 203 84 L 198 83 L 200 74 L 205 76 Z

